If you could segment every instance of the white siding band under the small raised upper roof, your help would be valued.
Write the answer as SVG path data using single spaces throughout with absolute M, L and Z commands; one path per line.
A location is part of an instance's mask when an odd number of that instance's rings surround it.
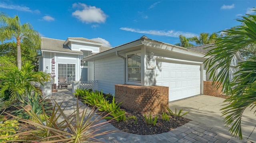
M 74 51 L 80 51 L 80 50 L 92 51 L 94 53 L 100 52 L 100 48 L 98 45 L 77 43 L 77 42 L 72 42 L 72 50 L 74 50 Z

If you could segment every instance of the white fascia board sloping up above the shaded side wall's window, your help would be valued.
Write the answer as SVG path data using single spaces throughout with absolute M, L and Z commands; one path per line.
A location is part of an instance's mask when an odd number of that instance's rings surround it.
M 95 58 L 98 58 L 100 56 L 107 55 L 107 54 L 110 54 L 110 53 L 115 53 L 116 51 L 122 51 L 122 50 L 128 49 L 130 47 L 136 47 L 136 46 L 139 46 L 139 45 L 142 45 L 142 44 L 143 43 L 140 40 L 134 41 L 132 43 L 121 45 L 120 47 L 116 47 L 116 48 L 110 49 L 108 51 L 98 53 L 96 55 L 89 55 L 88 57 L 84 57 L 84 59 L 82 59 L 82 61 L 93 61 Z

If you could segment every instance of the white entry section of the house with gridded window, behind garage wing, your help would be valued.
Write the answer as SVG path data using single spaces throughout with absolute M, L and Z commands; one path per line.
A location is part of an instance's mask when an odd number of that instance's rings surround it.
M 104 47 L 98 41 L 81 37 L 68 37 L 66 40 L 41 37 L 39 71 L 55 72 L 54 83 L 58 77 L 66 77 L 68 83 L 79 80 L 94 80 L 94 63 L 82 59 L 99 53 L 110 47 Z M 54 68 L 55 70 L 53 70 Z

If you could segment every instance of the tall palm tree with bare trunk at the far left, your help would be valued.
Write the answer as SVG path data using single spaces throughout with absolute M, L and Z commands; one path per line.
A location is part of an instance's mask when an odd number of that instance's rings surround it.
M 21 69 L 21 51 L 20 42 L 22 39 L 31 41 L 30 47 L 34 48 L 33 51 L 39 48 L 40 36 L 38 31 L 34 30 L 32 25 L 29 23 L 21 24 L 20 18 L 14 16 L 10 18 L 4 13 L 0 13 L 0 41 L 15 39 L 17 44 L 17 65 L 18 69 Z M 35 46 L 34 46 L 35 45 Z

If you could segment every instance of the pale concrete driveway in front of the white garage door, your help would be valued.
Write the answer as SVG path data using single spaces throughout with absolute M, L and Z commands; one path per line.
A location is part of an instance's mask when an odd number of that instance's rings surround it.
M 188 112 L 184 117 L 203 123 L 209 127 L 214 127 L 222 131 L 228 131 L 230 127 L 225 127 L 223 122 L 224 117 L 221 117 L 220 109 L 226 103 L 223 103 L 224 98 L 214 96 L 198 95 L 191 98 L 169 102 L 169 108 L 177 112 L 183 109 L 183 112 Z M 183 113 L 182 112 L 182 113 Z M 242 118 L 242 134 L 243 139 L 256 142 L 256 117 L 253 111 L 246 109 Z

